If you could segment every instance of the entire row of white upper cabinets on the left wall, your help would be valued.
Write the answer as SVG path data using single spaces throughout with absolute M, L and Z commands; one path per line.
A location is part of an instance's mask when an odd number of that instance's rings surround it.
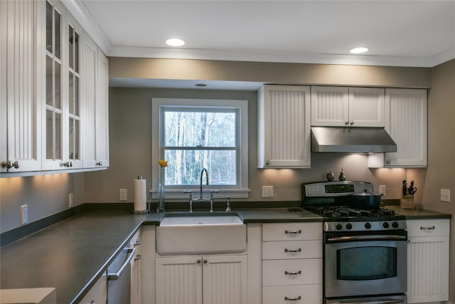
M 94 57 L 83 57 L 88 35 L 61 1 L 0 1 L 0 17 L 0 172 L 82 169 L 85 140 L 96 142 L 94 159 L 107 167 L 107 58 L 95 43 Z M 96 134 L 82 112 L 89 94 Z M 90 138 L 82 137 L 87 123 Z

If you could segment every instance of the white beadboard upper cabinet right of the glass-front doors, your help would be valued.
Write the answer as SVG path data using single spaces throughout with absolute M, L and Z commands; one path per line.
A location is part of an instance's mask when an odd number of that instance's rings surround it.
M 108 68 L 106 56 L 85 34 L 81 83 L 85 168 L 109 166 Z

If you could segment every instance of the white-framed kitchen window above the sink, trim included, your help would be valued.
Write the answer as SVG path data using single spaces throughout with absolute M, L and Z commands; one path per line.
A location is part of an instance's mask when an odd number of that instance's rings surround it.
M 152 187 L 164 169 L 167 199 L 188 198 L 183 190 L 200 189 L 200 172 L 208 170 L 215 197 L 246 198 L 248 192 L 247 100 L 152 98 Z

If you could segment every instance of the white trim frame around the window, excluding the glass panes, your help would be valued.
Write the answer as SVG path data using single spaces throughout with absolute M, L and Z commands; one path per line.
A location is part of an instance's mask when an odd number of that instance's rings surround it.
M 247 100 L 225 100 L 225 99 L 192 99 L 192 98 L 152 98 L 151 99 L 151 196 L 157 198 L 158 180 L 159 180 L 159 159 L 161 157 L 160 149 L 160 107 L 162 105 L 169 106 L 202 106 L 202 107 L 235 107 L 239 109 L 240 114 L 240 164 L 239 164 L 239 188 L 236 189 L 220 189 L 218 193 L 214 193 L 216 198 L 225 198 L 230 196 L 233 199 L 246 199 L 250 189 L 248 188 L 248 101 Z M 202 169 L 202 168 L 200 168 Z M 210 172 L 209 172 L 210 179 Z M 166 199 L 188 199 L 188 194 L 185 190 L 199 191 L 199 186 L 185 187 L 182 189 L 173 188 L 165 189 Z M 203 187 L 205 195 L 210 193 L 208 189 Z

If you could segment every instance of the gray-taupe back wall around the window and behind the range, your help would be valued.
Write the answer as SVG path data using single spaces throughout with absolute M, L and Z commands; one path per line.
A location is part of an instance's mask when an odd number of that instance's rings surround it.
M 119 201 L 119 189 L 128 189 L 132 200 L 133 179 L 142 175 L 151 185 L 151 98 L 218 98 L 248 100 L 249 182 L 247 201 L 299 201 L 303 182 L 325 180 L 332 171 L 344 169 L 348 179 L 387 186 L 387 198 L 400 197 L 406 169 L 368 169 L 365 154 L 311 154 L 311 169 L 257 169 L 257 93 L 248 91 L 163 90 L 111 88 L 109 91 L 110 157 L 107 171 L 85 174 L 88 202 Z M 420 169 L 423 171 L 425 169 Z M 274 186 L 274 197 L 263 199 L 262 186 Z

